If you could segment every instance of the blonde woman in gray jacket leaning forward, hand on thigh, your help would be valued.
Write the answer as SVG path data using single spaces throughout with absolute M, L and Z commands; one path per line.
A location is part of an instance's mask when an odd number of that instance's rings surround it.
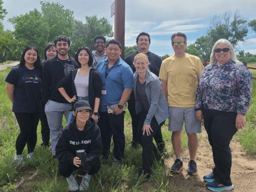
M 143 165 L 140 174 L 150 177 L 153 155 L 161 160 L 161 155 L 153 143 L 153 136 L 168 118 L 168 103 L 162 93 L 159 78 L 149 71 L 149 60 L 144 53 L 134 57 L 136 72 L 133 75 L 135 110 L 140 113 L 138 140 L 142 146 Z

